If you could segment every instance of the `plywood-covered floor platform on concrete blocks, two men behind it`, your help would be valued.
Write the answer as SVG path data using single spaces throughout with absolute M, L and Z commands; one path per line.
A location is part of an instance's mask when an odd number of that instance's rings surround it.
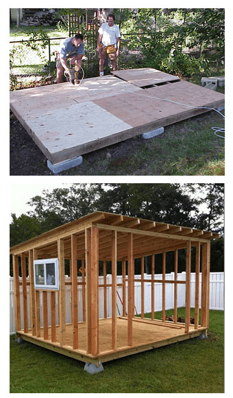
M 80 86 L 67 82 L 13 91 L 10 108 L 55 164 L 208 111 L 164 100 L 212 108 L 224 104 L 223 94 L 156 69 L 116 74 L 121 78 L 108 75 L 85 79 Z

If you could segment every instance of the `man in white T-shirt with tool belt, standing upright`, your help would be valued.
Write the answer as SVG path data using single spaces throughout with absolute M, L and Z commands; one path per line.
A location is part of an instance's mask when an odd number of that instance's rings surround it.
M 121 34 L 118 25 L 114 25 L 114 14 L 108 14 L 108 22 L 102 23 L 99 28 L 97 51 L 99 52 L 99 75 L 103 76 L 103 66 L 108 54 L 112 62 L 112 70 L 116 71 L 116 58 L 120 53 Z

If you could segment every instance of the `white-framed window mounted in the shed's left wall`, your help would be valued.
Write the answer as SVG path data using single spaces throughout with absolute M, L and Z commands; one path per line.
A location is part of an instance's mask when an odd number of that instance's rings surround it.
M 58 259 L 34 260 L 34 284 L 36 289 L 59 289 Z

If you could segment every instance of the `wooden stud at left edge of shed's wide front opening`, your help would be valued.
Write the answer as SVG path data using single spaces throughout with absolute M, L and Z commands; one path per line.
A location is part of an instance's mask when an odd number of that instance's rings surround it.
M 133 344 L 133 234 L 128 234 L 128 321 L 127 321 L 127 344 Z

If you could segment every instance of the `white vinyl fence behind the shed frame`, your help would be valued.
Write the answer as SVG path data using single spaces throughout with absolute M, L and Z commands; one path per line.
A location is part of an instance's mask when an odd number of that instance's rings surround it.
M 77 278 L 78 282 L 82 278 Z M 135 279 L 140 279 L 140 275 L 135 275 Z M 151 279 L 151 275 L 144 274 L 144 279 Z M 156 274 L 155 279 L 162 279 L 162 274 Z M 166 279 L 174 280 L 174 272 L 166 274 Z M 181 272 L 178 274 L 177 279 L 184 281 L 186 273 Z M 21 278 L 20 278 L 21 280 Z M 27 278 L 27 281 L 29 279 Z M 65 281 L 70 281 L 69 277 Z M 111 283 L 112 275 L 107 275 L 107 283 Z M 99 277 L 99 285 L 103 283 L 103 277 Z M 122 283 L 122 276 L 117 276 L 117 283 Z M 201 274 L 199 277 L 199 306 L 201 305 Z M 107 288 L 107 316 L 111 316 L 112 308 L 112 288 Z M 122 286 L 117 287 L 116 294 L 116 314 L 122 315 Z M 20 286 L 21 296 L 21 327 L 23 327 L 23 293 L 22 286 Z M 77 286 L 77 299 L 78 299 L 78 316 L 79 321 L 82 320 L 82 285 Z M 126 282 L 126 299 L 127 299 L 127 282 Z M 140 296 L 140 282 L 134 283 L 134 302 L 135 313 L 140 314 L 141 296 Z M 27 286 L 27 316 L 28 326 L 30 327 L 30 307 L 29 307 L 29 286 Z M 174 307 L 174 284 L 167 283 L 166 285 L 166 309 L 173 309 Z M 185 307 L 185 285 L 177 285 L 177 307 Z M 191 273 L 191 307 L 195 307 L 195 272 Z M 127 305 L 126 305 L 127 309 Z M 210 272 L 210 309 L 224 309 L 224 272 Z M 155 283 L 155 311 L 162 310 L 162 283 Z M 151 312 L 151 282 L 144 283 L 144 311 L 145 313 Z M 42 294 L 40 295 L 40 314 L 41 326 L 43 325 L 42 319 Z M 50 294 L 48 294 L 48 317 L 50 325 Z M 58 302 L 56 294 L 56 322 L 58 323 Z M 99 288 L 99 318 L 103 318 L 103 288 Z M 66 323 L 71 323 L 71 285 L 66 285 Z M 14 277 L 10 277 L 10 334 L 15 333 L 15 320 L 14 320 Z

